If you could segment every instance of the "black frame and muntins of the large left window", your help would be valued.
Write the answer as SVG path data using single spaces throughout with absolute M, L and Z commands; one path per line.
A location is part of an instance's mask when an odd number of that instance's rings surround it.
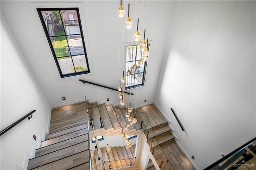
M 54 57 L 54 61 L 55 61 L 56 65 L 57 65 L 58 71 L 60 73 L 60 77 L 61 78 L 66 78 L 66 77 L 78 76 L 78 75 L 82 75 L 82 74 L 89 74 L 90 73 L 90 67 L 89 67 L 88 57 L 87 57 L 87 53 L 86 53 L 86 47 L 85 47 L 85 43 L 84 43 L 84 34 L 83 34 L 83 30 L 82 30 L 82 25 L 81 25 L 79 9 L 78 8 L 37 8 L 36 10 L 38 12 L 38 15 L 39 15 L 40 21 L 42 23 L 42 26 L 44 28 L 44 32 L 46 34 L 47 41 L 48 41 L 48 43 L 50 45 L 50 49 L 52 51 L 52 55 Z M 82 43 L 83 43 L 83 47 L 84 47 L 84 54 L 80 54 L 80 55 L 85 55 L 86 64 L 87 64 L 87 71 L 76 72 L 76 69 L 74 68 L 74 70 L 75 70 L 74 73 L 62 74 L 60 65 L 58 63 L 58 58 L 56 57 L 56 54 L 55 54 L 55 51 L 54 51 L 54 48 L 52 46 L 52 42 L 51 42 L 51 39 L 50 39 L 51 37 L 58 37 L 58 35 L 57 36 L 50 36 L 48 34 L 48 29 L 46 28 L 45 21 L 44 21 L 44 18 L 42 16 L 42 11 L 57 11 L 57 10 L 59 12 L 62 11 L 62 10 L 76 10 L 76 12 L 77 12 L 77 18 L 78 18 L 78 23 L 79 23 L 79 28 L 80 28 L 80 34 L 79 35 L 81 35 L 81 39 L 82 39 Z M 63 25 L 63 21 L 62 21 L 62 25 Z M 60 36 L 68 36 L 68 35 L 66 35 L 65 28 L 64 28 L 64 33 L 65 33 L 65 35 L 60 35 Z M 76 35 L 76 34 L 72 34 L 72 35 Z M 68 41 L 68 39 L 67 39 L 67 41 Z M 68 48 L 70 48 L 69 45 L 68 45 Z M 72 59 L 73 56 L 78 56 L 78 55 L 71 55 L 71 53 L 70 53 L 69 57 L 71 59 Z M 74 66 L 73 59 L 72 59 L 72 63 L 73 63 L 73 66 Z

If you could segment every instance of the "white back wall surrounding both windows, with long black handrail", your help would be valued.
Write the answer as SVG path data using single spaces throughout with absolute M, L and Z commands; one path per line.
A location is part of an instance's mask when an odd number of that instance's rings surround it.
M 155 93 L 157 86 L 156 80 L 160 73 L 164 47 L 167 41 L 166 35 L 168 35 L 168 28 L 170 26 L 170 14 L 174 2 L 131 2 L 130 17 L 134 21 L 134 27 L 128 31 L 124 29 L 124 21 L 128 14 L 128 1 L 123 2 L 126 17 L 122 19 L 116 15 L 120 1 L 76 1 L 81 2 L 84 9 L 84 12 L 80 11 L 80 13 L 85 17 L 82 20 L 82 23 L 86 24 L 86 29 L 83 27 L 83 32 L 88 35 L 86 49 L 90 51 L 88 57 L 91 61 L 89 65 L 92 73 L 62 80 L 60 80 L 60 75 L 58 74 L 38 14 L 35 14 L 36 9 L 30 8 L 30 2 L 33 1 L 1 1 L 1 11 L 6 17 L 7 23 L 10 25 L 10 29 L 28 65 L 52 107 L 84 100 L 85 95 L 90 100 L 99 99 L 100 102 L 106 102 L 106 99 L 109 98 L 110 102 L 114 104 L 120 102 L 117 96 L 118 92 L 90 84 L 82 84 L 78 80 L 81 78 L 114 88 L 118 87 L 122 74 L 121 63 L 119 63 L 119 55 L 122 56 L 122 43 L 131 41 L 132 35 L 135 33 L 136 20 L 138 18 L 138 12 L 136 12 L 138 9 L 135 6 L 140 3 L 141 20 L 139 31 L 143 35 L 144 28 L 146 28 L 146 37 L 152 40 L 154 45 L 150 46 L 146 85 L 137 88 L 134 93 L 138 94 L 137 105 L 144 104 L 144 100 L 147 100 L 148 103 L 153 102 L 154 96 L 152 94 Z M 62 4 L 60 3 L 60 6 Z M 148 9 L 146 13 L 143 12 L 145 9 L 144 5 Z M 149 10 L 151 7 L 152 10 Z M 18 19 L 17 16 L 19 16 Z M 122 35 L 124 35 L 123 41 Z M 62 101 L 63 96 L 66 97 L 66 101 Z M 134 101 L 135 98 L 136 96 L 134 96 Z

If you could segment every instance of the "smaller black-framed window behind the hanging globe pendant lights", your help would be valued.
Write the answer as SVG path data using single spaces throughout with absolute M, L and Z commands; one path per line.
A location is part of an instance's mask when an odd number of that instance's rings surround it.
M 136 56 L 136 46 L 137 46 L 137 57 Z M 149 49 L 149 44 L 148 44 Z M 142 49 L 140 49 L 140 45 L 129 45 L 126 46 L 126 72 L 130 68 L 132 74 L 130 76 L 126 75 L 126 84 L 125 89 L 136 88 L 140 86 L 144 86 L 145 76 L 146 76 L 146 68 L 147 61 L 143 63 L 142 66 L 138 64 L 138 61 L 143 57 Z M 136 61 L 135 61 L 136 58 Z M 136 62 L 137 70 L 133 70 L 132 66 Z

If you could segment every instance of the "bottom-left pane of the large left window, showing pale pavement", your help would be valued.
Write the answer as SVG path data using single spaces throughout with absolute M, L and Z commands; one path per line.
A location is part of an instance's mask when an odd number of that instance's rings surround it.
M 58 58 L 58 63 L 60 65 L 62 74 L 70 74 L 75 72 L 71 57 Z

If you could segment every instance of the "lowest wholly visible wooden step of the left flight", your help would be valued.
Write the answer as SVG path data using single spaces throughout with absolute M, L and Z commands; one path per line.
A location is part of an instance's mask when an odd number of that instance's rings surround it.
M 56 160 L 65 158 L 67 156 L 76 154 L 78 152 L 82 152 L 87 149 L 88 149 L 88 141 L 82 142 L 76 145 L 72 145 L 70 147 L 66 147 L 64 149 L 57 150 L 42 156 L 38 156 L 36 158 L 32 158 L 28 161 L 28 169 L 31 170 L 38 166 L 49 164 L 50 162 L 54 162 Z

